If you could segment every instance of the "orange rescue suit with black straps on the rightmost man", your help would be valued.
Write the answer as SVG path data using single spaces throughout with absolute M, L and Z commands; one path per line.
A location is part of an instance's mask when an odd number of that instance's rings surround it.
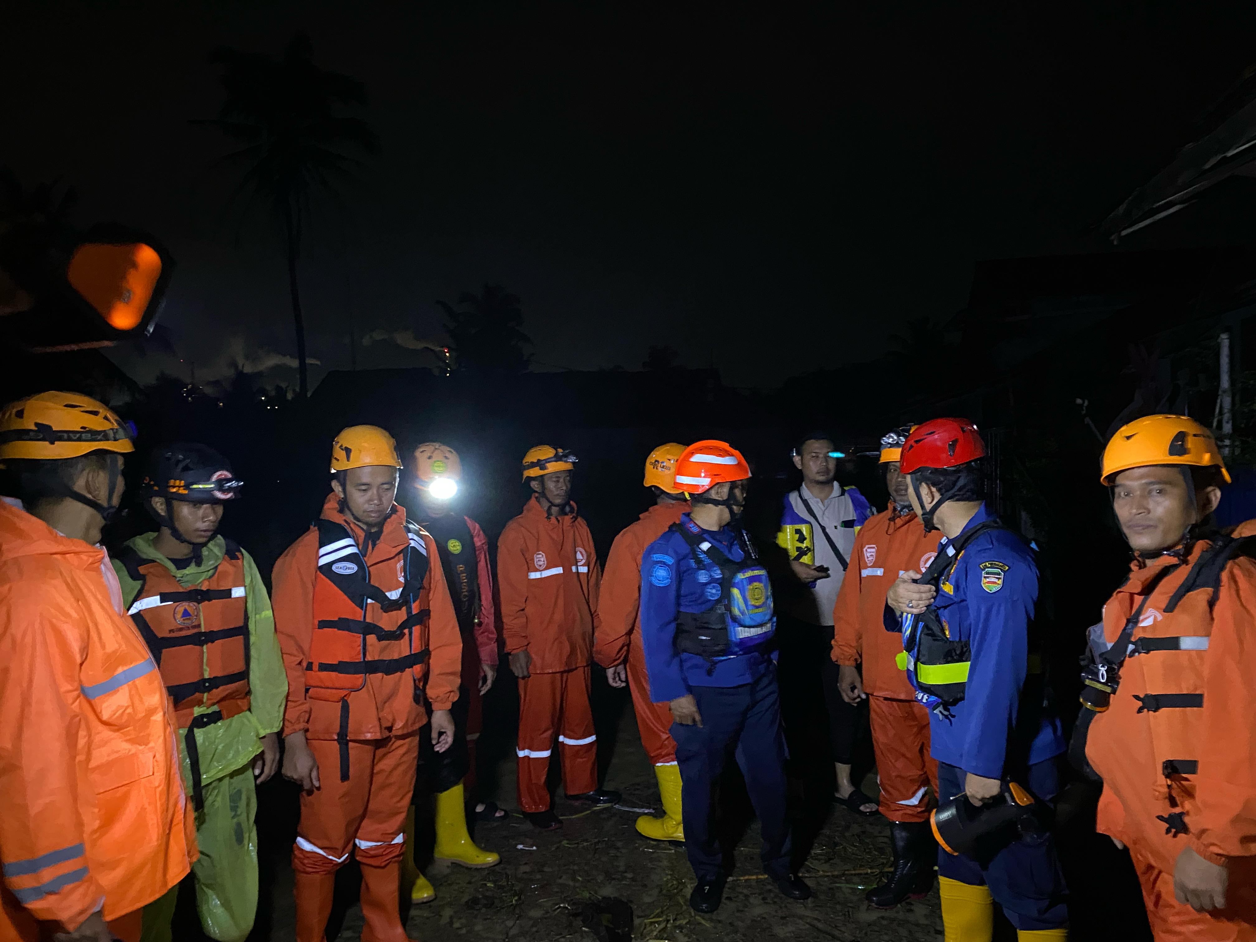
M 1208 545 L 1196 543 L 1189 561 Z M 1176 563 L 1167 555 L 1145 565 L 1135 561 L 1104 607 L 1104 637 L 1112 643 L 1145 598 L 1133 636 L 1135 653 L 1125 658 L 1112 706 L 1095 715 L 1086 739 L 1086 757 L 1104 780 L 1096 826 L 1129 848 L 1157 942 L 1251 942 L 1256 561 L 1241 558 L 1225 568 L 1211 614 L 1207 590 L 1186 593 L 1172 612 L 1164 610 L 1189 566 L 1156 578 Z M 1226 909 L 1197 913 L 1174 898 L 1173 869 L 1187 847 L 1228 864 Z

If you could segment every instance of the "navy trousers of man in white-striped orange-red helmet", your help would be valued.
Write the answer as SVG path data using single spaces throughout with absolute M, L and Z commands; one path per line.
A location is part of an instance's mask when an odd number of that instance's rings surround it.
M 716 836 L 715 790 L 730 752 L 746 779 L 759 815 L 764 870 L 775 878 L 790 872 L 790 834 L 785 816 L 785 734 L 774 664 L 752 683 L 737 687 L 692 687 L 702 726 L 672 723 L 681 767 L 685 852 L 693 873 L 713 879 L 723 870 Z

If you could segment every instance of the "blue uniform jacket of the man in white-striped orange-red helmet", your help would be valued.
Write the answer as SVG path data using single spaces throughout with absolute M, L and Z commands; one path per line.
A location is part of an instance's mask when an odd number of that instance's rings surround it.
M 717 533 L 701 530 L 688 514 L 681 516 L 681 526 L 702 533 L 728 559 L 741 561 L 745 556 L 728 528 Z M 766 669 L 769 656 L 751 652 L 720 658 L 715 671 L 708 673 L 710 664 L 701 657 L 676 649 L 676 613 L 706 612 L 718 599 L 718 568 L 712 564 L 710 569 L 700 569 L 690 545 L 678 533 L 668 530 L 646 548 L 641 558 L 641 642 L 653 702 L 683 697 L 690 687 L 754 683 Z

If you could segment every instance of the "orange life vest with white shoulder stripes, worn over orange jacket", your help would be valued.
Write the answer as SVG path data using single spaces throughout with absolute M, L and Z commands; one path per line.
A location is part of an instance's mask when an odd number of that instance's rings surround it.
M 422 633 L 428 609 L 416 609 L 427 577 L 427 548 L 422 531 L 406 524 L 409 545 L 402 551 L 396 585 L 386 589 L 371 582 L 371 569 L 352 534 L 334 520 L 315 521 L 319 535 L 318 577 L 314 580 L 314 632 L 305 686 L 315 700 L 340 700 L 367 685 L 372 673 L 412 671 L 422 679 L 420 664 L 427 659 Z M 406 610 L 394 628 L 384 628 L 376 613 Z M 391 619 L 389 619 L 391 620 Z M 388 643 L 393 657 L 367 658 L 367 636 Z M 398 642 L 396 647 L 391 643 Z

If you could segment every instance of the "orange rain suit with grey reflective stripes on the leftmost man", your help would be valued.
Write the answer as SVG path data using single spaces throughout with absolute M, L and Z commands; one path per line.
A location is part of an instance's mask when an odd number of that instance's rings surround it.
M 138 939 L 144 904 L 196 859 L 170 697 L 104 550 L 8 501 L 0 710 L 0 941 L 102 908 L 114 936 Z

